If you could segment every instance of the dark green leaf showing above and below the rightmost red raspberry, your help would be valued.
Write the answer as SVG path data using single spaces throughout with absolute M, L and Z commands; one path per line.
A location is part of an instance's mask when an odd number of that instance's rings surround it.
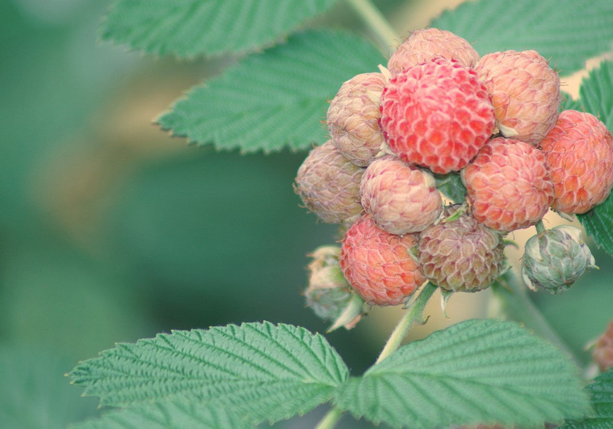
M 590 71 L 579 88 L 585 111 L 600 117 L 609 130 L 613 129 L 613 62 L 604 61 Z M 613 198 L 611 195 L 592 210 L 577 215 L 585 232 L 596 245 L 613 256 Z

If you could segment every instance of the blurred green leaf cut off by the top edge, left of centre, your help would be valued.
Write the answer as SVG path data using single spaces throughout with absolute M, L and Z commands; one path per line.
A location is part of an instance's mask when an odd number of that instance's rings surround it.
M 117 0 L 103 40 L 148 54 L 253 50 L 326 11 L 336 0 Z

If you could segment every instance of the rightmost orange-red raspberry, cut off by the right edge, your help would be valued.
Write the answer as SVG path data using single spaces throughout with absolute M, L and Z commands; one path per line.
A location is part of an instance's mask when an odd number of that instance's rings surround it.
M 613 136 L 589 113 L 565 110 L 541 142 L 555 186 L 555 211 L 585 213 L 613 186 Z

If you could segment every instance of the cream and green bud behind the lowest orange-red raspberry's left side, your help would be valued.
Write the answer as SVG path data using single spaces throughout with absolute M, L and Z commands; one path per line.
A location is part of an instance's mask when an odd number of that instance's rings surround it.
M 338 264 L 340 247 L 322 246 L 311 256 L 307 307 L 319 318 L 334 322 L 329 331 L 341 326 L 351 329 L 362 316 L 364 300 L 354 293 Z

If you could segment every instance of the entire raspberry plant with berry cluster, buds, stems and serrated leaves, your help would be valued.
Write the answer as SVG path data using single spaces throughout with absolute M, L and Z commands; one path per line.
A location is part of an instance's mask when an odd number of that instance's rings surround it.
M 262 0 L 253 22 L 240 9 L 221 39 L 207 14 L 223 22 L 238 6 L 188 3 L 118 0 L 104 21 L 105 38 L 147 53 L 248 52 L 158 123 L 223 149 L 310 149 L 294 190 L 338 233 L 310 255 L 305 306 L 329 332 L 367 324 L 373 307 L 405 311 L 362 375 L 350 376 L 321 334 L 283 323 L 118 345 L 69 376 L 122 409 L 76 428 L 254 427 L 324 403 L 319 429 L 348 414 L 408 428 L 613 427 L 611 326 L 586 364 L 533 302 L 589 287 L 582 275 L 598 268 L 590 247 L 613 255 L 613 64 L 602 62 L 578 99 L 562 91 L 562 73 L 610 48 L 609 2 L 576 11 L 546 1 L 547 16 L 527 0 L 466 2 L 426 29 L 401 29 L 405 40 L 369 0 L 336 2 L 368 36 L 297 31 L 332 13 L 334 0 Z M 499 24 L 501 8 L 509 17 Z M 556 32 L 565 14 L 598 31 L 569 43 L 568 31 Z M 170 21 L 182 30 L 169 32 Z M 530 228 L 536 234 L 520 239 Z M 519 261 L 509 244 L 524 253 Z M 454 294 L 487 294 L 490 318 L 402 345 L 427 322 L 435 293 L 443 310 Z M 613 304 L 608 311 L 613 318 Z

